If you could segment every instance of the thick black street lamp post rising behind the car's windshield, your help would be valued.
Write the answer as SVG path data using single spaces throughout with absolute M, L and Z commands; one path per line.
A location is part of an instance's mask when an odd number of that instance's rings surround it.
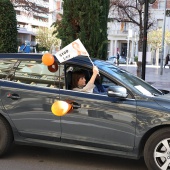
M 148 26 L 148 7 L 149 3 L 153 4 L 156 0 L 138 0 L 140 4 L 145 4 L 144 11 L 144 33 L 143 33 L 143 53 L 142 53 L 142 79 L 145 80 L 146 70 L 146 48 L 147 48 L 147 26 Z

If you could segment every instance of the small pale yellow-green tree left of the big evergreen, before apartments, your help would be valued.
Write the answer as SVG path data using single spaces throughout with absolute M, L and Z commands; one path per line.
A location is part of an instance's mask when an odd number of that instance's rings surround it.
M 36 39 L 38 48 L 42 51 L 52 51 L 52 48 L 59 48 L 61 41 L 53 35 L 54 27 L 39 28 Z

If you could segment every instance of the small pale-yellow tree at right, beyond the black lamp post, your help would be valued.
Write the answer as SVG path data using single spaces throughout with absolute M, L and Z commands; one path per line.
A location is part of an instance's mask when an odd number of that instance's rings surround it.
M 159 65 L 159 51 L 162 49 L 162 29 L 148 33 L 148 44 L 156 52 L 156 65 Z M 165 44 L 170 44 L 170 31 L 165 31 Z

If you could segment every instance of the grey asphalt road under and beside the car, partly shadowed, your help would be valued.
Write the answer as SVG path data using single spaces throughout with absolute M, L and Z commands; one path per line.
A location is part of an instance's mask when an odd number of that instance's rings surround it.
M 147 170 L 133 160 L 70 150 L 14 145 L 0 159 L 0 170 Z

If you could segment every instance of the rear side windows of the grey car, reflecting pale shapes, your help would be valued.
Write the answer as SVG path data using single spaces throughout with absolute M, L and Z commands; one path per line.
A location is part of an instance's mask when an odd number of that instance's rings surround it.
M 1 78 L 34 86 L 64 88 L 64 67 L 62 65 L 58 66 L 56 72 L 36 60 L 8 60 L 5 67 L 2 66 L 2 63 L 0 65 L 2 67 L 0 68 Z

